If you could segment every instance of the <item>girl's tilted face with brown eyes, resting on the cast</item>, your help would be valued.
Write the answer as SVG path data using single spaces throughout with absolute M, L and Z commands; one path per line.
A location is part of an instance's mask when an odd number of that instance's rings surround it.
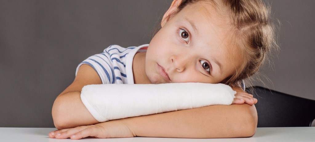
M 150 81 L 219 83 L 236 73 L 243 59 L 231 48 L 227 20 L 210 4 L 198 2 L 162 22 L 146 52 Z

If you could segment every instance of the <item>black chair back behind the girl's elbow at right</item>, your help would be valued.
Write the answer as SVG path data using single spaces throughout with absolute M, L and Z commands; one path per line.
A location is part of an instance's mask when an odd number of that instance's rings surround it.
M 255 94 L 255 98 L 258 99 L 257 104 L 255 104 L 258 113 L 257 127 L 314 126 L 315 100 L 304 99 L 259 86 L 254 86 L 252 90 L 247 88 L 247 90 L 250 94 Z

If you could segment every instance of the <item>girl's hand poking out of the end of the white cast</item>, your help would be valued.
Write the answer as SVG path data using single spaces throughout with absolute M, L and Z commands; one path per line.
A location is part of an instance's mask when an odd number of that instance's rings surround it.
M 246 93 L 244 90 L 240 88 L 233 88 L 237 93 L 235 94 L 235 98 L 232 102 L 232 104 L 248 104 L 248 105 L 254 105 L 257 103 L 257 99 L 253 97 L 252 94 Z

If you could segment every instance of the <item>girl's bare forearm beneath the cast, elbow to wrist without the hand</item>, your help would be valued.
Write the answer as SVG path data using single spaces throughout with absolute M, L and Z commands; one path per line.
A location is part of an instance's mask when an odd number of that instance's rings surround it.
M 212 105 L 120 119 L 141 137 L 238 138 L 257 128 L 254 105 Z

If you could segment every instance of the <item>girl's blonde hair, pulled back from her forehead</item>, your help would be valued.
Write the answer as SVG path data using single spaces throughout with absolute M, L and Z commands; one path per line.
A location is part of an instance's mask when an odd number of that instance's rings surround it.
M 245 80 L 247 86 L 253 84 L 254 78 L 261 80 L 258 76 L 261 66 L 268 62 L 271 53 L 278 51 L 279 48 L 270 7 L 267 8 L 261 0 L 183 0 L 177 10 L 166 19 L 177 14 L 187 5 L 200 1 L 211 4 L 216 11 L 221 11 L 219 14 L 230 18 L 229 25 L 234 31 L 233 42 L 243 51 L 246 60 L 239 71 L 221 83 L 239 87 L 242 80 Z

